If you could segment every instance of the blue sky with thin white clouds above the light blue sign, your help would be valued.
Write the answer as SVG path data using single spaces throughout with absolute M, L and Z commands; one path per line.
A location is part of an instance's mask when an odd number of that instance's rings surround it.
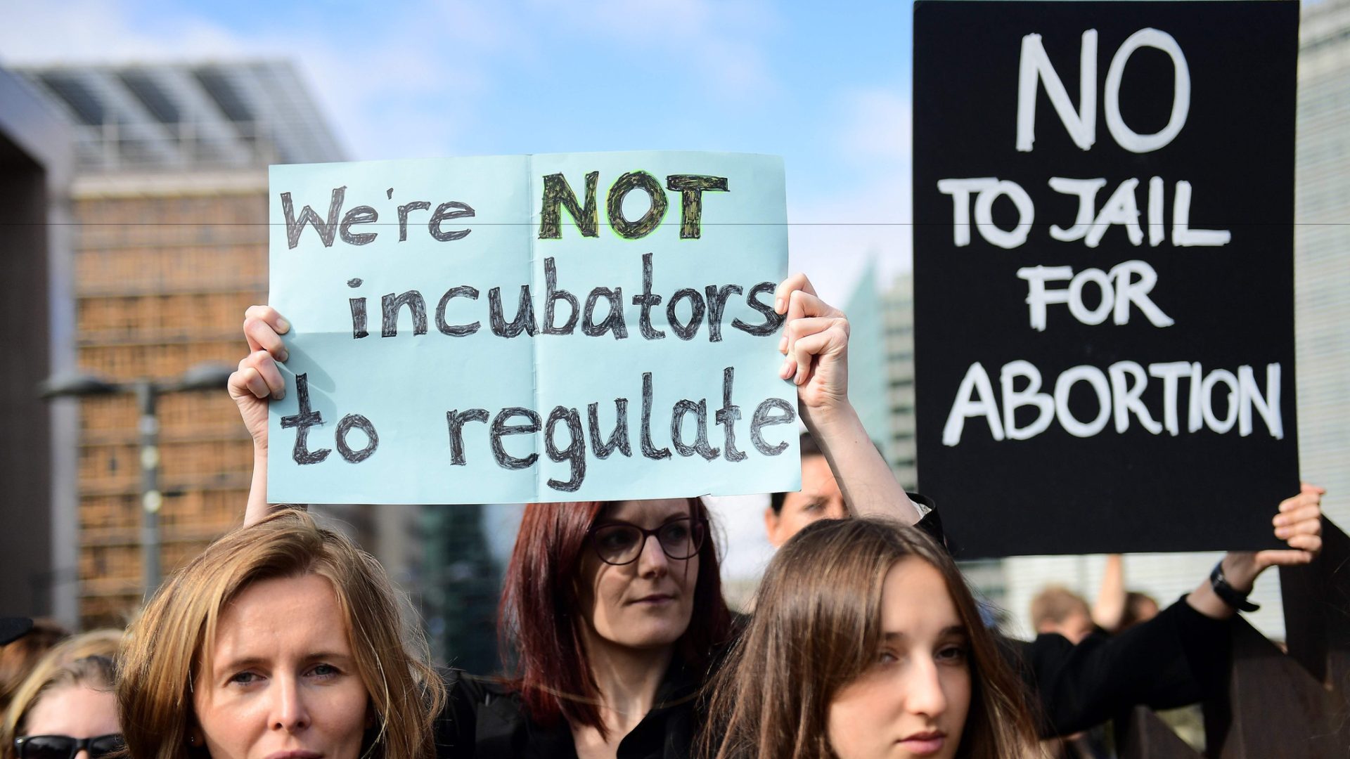
M 911 5 L 0 0 L 0 65 L 285 57 L 352 158 L 783 155 L 792 267 L 909 269 Z

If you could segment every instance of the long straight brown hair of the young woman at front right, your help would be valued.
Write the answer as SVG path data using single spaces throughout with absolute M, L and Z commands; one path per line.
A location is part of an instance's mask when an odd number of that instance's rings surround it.
M 699 740 L 717 759 L 830 759 L 829 705 L 875 660 L 882 586 L 917 556 L 946 581 L 971 646 L 971 709 L 957 756 L 1035 754 L 1021 681 L 980 621 L 952 558 L 919 529 L 879 519 L 817 521 L 770 562 L 749 629 L 732 648 Z

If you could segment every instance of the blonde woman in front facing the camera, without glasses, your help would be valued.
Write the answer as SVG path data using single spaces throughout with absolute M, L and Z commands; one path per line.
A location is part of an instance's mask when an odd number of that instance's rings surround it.
M 235 529 L 127 631 L 127 747 L 136 759 L 431 759 L 444 690 L 402 635 L 389 578 L 347 538 L 294 509 Z

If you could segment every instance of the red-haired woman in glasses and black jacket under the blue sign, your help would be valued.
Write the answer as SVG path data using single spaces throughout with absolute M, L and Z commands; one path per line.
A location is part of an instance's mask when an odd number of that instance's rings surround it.
M 699 498 L 533 504 L 502 592 L 508 681 L 459 675 L 455 756 L 688 756 L 732 636 Z

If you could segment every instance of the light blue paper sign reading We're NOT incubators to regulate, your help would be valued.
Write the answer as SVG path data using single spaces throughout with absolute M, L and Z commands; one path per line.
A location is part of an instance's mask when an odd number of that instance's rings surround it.
M 273 502 L 795 490 L 782 159 L 271 167 Z

